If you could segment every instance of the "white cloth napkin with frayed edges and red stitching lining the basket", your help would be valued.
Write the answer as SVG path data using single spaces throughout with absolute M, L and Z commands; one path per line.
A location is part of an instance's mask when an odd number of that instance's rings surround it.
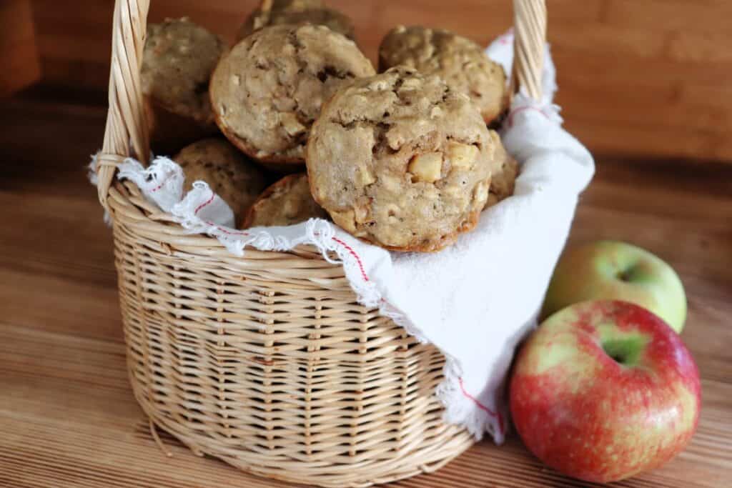
M 509 32 L 487 50 L 507 72 L 512 45 Z M 208 185 L 199 181 L 183 195 L 182 170 L 170 159 L 158 158 L 147 169 L 127 160 L 119 178 L 135 181 L 184 228 L 216 237 L 235 255 L 247 246 L 286 250 L 303 243 L 324 255 L 334 251 L 361 304 L 378 307 L 446 356 L 436 392 L 446 420 L 476 438 L 490 432 L 501 443 L 507 428 L 504 383 L 515 346 L 536 325 L 578 195 L 594 173 L 591 155 L 561 129 L 559 108 L 551 105 L 556 83 L 548 50 L 544 78 L 544 100 L 515 97 L 501 131 L 521 165 L 515 194 L 484 211 L 477 228 L 457 244 L 435 254 L 387 252 L 322 219 L 235 230 L 231 209 Z

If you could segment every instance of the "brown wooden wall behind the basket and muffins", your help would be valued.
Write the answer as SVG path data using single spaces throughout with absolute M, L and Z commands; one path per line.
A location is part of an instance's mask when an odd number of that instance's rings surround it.
M 105 89 L 113 0 L 32 0 L 45 80 Z M 397 23 L 439 23 L 485 44 L 510 0 L 331 0 L 376 57 Z M 255 0 L 152 0 L 231 37 Z M 731 0 L 548 0 L 567 127 L 597 154 L 732 162 Z

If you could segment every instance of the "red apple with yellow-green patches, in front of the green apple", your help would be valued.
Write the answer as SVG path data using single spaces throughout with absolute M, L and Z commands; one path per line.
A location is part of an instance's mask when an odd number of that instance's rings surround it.
M 529 450 L 600 483 L 678 454 L 701 407 L 698 369 L 679 335 L 623 301 L 583 302 L 548 318 L 520 350 L 509 388 Z

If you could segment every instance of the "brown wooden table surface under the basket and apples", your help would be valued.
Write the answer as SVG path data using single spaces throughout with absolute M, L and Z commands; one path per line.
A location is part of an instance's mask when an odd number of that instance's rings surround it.
M 0 102 L 0 487 L 283 486 L 167 435 L 165 457 L 152 440 L 127 381 L 111 232 L 84 179 L 105 108 L 73 99 Z M 687 451 L 616 486 L 732 487 L 732 167 L 598 161 L 572 241 L 601 238 L 651 249 L 679 271 L 683 338 L 703 378 Z M 543 467 L 512 437 L 392 486 L 589 485 Z

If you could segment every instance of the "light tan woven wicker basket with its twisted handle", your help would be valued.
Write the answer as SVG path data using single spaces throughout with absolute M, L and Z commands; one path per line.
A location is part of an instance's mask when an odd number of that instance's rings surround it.
M 117 0 L 99 196 L 114 222 L 127 363 L 151 426 L 250 473 L 365 487 L 471 446 L 433 392 L 444 358 L 356 303 L 314 248 L 231 255 L 114 179 L 149 154 L 140 65 L 149 1 Z M 539 95 L 543 1 L 517 0 L 516 76 Z M 131 146 L 131 147 L 130 147 Z

